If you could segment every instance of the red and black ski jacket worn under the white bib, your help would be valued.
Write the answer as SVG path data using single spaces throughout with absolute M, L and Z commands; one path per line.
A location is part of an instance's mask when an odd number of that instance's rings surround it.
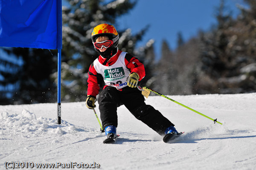
M 116 55 L 113 55 L 109 61 L 103 65 L 104 61 L 106 60 L 105 58 L 103 58 L 101 55 L 90 65 L 89 68 L 89 72 L 88 72 L 88 88 L 87 88 L 87 95 L 92 95 L 95 96 L 99 94 L 99 89 L 100 86 L 104 85 L 104 88 L 107 86 L 104 82 L 104 76 L 106 76 L 105 74 L 102 75 L 102 73 L 99 72 L 99 69 L 104 69 L 104 68 L 108 68 L 111 67 L 114 63 L 116 63 L 118 61 L 118 58 L 120 56 L 120 54 L 122 53 L 121 50 L 118 50 Z M 96 61 L 99 61 L 99 64 L 97 64 L 97 70 L 96 71 L 95 67 L 94 67 L 94 63 Z M 144 77 L 145 77 L 145 68 L 143 63 L 140 63 L 140 61 L 133 57 L 132 55 L 126 53 L 125 54 L 125 58 L 124 58 L 124 62 L 125 62 L 125 66 L 126 68 L 121 68 L 121 69 L 128 69 L 128 71 L 131 72 L 136 72 L 139 75 L 139 81 L 141 81 Z M 101 67 L 101 68 L 98 68 Z M 120 67 L 119 67 L 120 68 Z M 106 70 L 105 72 L 106 73 Z M 127 76 L 127 75 L 126 75 Z M 126 82 L 125 82 L 126 84 Z M 103 88 L 103 89 L 104 89 Z M 119 90 L 122 90 L 122 87 L 120 88 L 119 86 Z

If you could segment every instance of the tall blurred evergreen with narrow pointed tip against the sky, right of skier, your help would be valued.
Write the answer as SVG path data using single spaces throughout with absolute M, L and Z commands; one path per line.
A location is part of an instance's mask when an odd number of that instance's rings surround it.
M 205 75 L 198 79 L 196 86 L 198 93 L 218 92 L 216 82 L 219 78 L 227 76 L 232 69 L 230 53 L 227 53 L 229 35 L 227 29 L 232 26 L 232 17 L 225 11 L 224 0 L 221 0 L 215 17 L 218 21 L 215 29 L 211 32 L 201 33 L 201 69 Z M 215 83 L 213 83 L 215 82 Z M 207 89 L 205 89 L 207 88 Z M 215 91 L 217 89 L 217 91 Z

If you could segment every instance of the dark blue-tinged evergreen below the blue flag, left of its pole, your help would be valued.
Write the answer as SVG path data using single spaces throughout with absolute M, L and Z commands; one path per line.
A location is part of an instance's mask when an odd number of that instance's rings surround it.
M 3 96 L 7 100 L 5 104 L 45 103 L 56 100 L 56 86 L 50 78 L 57 68 L 57 63 L 53 61 L 53 54 L 56 57 L 54 50 L 52 54 L 48 49 L 3 49 L 12 57 L 1 71 L 1 84 L 9 87 L 5 89 L 8 95 Z

